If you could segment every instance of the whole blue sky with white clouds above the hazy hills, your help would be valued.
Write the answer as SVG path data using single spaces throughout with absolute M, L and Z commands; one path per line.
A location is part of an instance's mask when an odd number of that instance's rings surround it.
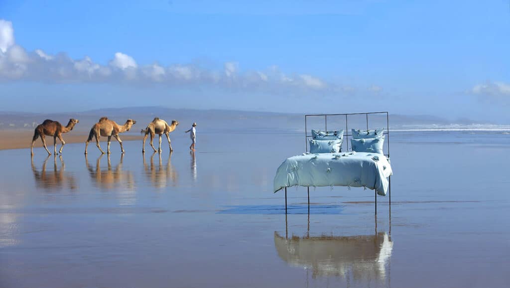
M 1 111 L 510 122 L 510 2 L 0 0 Z

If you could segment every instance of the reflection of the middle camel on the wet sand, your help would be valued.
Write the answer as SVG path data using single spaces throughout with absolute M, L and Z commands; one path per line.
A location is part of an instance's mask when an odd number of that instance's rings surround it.
M 115 169 L 112 169 L 112 163 L 110 161 L 110 154 L 107 155 L 108 168 L 106 170 L 101 169 L 100 163 L 101 158 L 105 154 L 101 154 L 96 160 L 95 169 L 89 164 L 87 155 L 85 155 L 85 163 L 89 171 L 90 177 L 94 180 L 96 187 L 103 190 L 112 190 L 115 188 L 127 189 L 130 191 L 135 190 L 135 182 L 133 174 L 130 171 L 122 171 L 122 159 L 124 154 L 120 154 L 120 160 Z

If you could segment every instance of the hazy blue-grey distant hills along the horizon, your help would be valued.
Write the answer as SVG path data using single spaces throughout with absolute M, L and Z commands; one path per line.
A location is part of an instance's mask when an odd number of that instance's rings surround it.
M 107 116 L 119 124 L 131 118 L 137 121 L 134 131 L 144 128 L 154 117 L 167 121 L 176 119 L 180 128 L 184 129 L 193 122 L 197 122 L 202 131 L 236 131 L 237 133 L 256 133 L 257 130 L 273 130 L 275 133 L 295 133 L 304 130 L 304 114 L 275 113 L 239 110 L 198 110 L 165 107 L 125 107 L 105 108 L 83 112 L 69 113 L 25 113 L 0 112 L 0 130 L 5 129 L 33 129 L 44 119 L 53 119 L 67 124 L 69 118 L 77 118 L 80 123 L 75 127 L 78 131 L 88 131 L 99 117 Z M 349 116 L 349 128 L 365 128 L 366 116 Z M 370 115 L 369 128 L 386 127 L 385 115 Z M 455 121 L 432 115 L 399 115 L 390 114 L 390 128 L 392 129 L 494 129 L 500 126 L 493 123 L 475 123 L 470 119 Z M 309 117 L 308 129 L 324 129 L 324 117 Z M 329 116 L 328 129 L 345 129 L 345 116 Z

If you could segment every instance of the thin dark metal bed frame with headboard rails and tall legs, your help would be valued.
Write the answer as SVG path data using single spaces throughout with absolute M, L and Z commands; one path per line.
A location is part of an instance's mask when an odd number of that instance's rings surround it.
M 327 117 L 328 116 L 345 116 L 345 131 L 344 131 L 344 141 L 342 142 L 342 147 L 344 143 L 346 143 L 346 150 L 349 150 L 349 136 L 352 137 L 352 134 L 349 131 L 349 116 L 352 115 L 365 115 L 366 120 L 366 128 L 368 128 L 368 120 L 369 115 L 380 115 L 380 116 L 386 116 L 386 129 L 383 132 L 384 135 L 386 135 L 386 143 L 388 144 L 388 148 L 386 149 L 385 156 L 390 158 L 390 115 L 388 112 L 366 112 L 366 113 L 343 113 L 343 114 L 307 114 L 304 115 L 304 142 L 305 142 L 305 149 L 308 152 L 308 138 L 312 137 L 312 135 L 308 134 L 308 117 L 324 117 L 324 130 L 327 131 Z M 337 129 L 339 127 L 336 127 Z M 380 127 L 374 127 L 374 128 L 380 128 Z M 360 128 L 358 128 L 360 129 Z M 383 147 L 384 149 L 384 147 Z M 388 196 L 390 198 L 389 200 L 389 207 L 390 207 L 390 213 L 391 213 L 391 176 L 388 178 L 389 180 L 389 186 L 388 186 Z M 307 187 L 307 194 L 308 194 L 308 210 L 310 210 L 310 187 Z M 377 215 L 377 191 L 374 189 L 374 207 L 375 207 L 375 214 Z M 285 187 L 285 214 L 287 214 L 287 187 Z

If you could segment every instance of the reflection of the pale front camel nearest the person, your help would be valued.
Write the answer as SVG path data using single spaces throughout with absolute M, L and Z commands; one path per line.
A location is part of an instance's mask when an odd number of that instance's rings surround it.
M 156 166 L 154 164 L 154 156 L 158 154 L 159 165 Z M 171 162 L 172 152 L 168 154 L 168 161 L 166 166 L 163 165 L 163 160 L 161 158 L 161 152 L 154 152 L 150 156 L 150 166 L 145 161 L 145 153 L 143 153 L 143 169 L 145 170 L 145 175 L 150 180 L 150 183 L 156 188 L 163 188 L 167 185 L 168 179 L 170 179 L 172 186 L 177 185 L 177 179 L 179 179 L 179 175 L 175 170 L 175 167 Z

